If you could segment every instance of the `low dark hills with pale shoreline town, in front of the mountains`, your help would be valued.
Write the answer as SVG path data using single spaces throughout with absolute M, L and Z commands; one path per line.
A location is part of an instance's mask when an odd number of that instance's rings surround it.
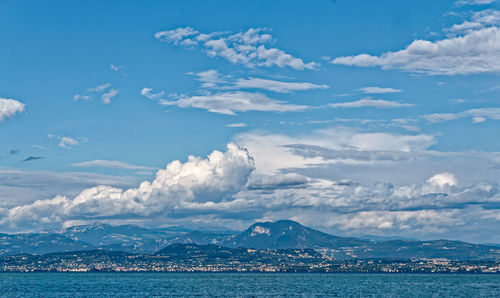
M 102 250 L 0 258 L 0 272 L 500 273 L 499 261 L 335 260 L 305 249 L 174 244 L 155 255 Z

